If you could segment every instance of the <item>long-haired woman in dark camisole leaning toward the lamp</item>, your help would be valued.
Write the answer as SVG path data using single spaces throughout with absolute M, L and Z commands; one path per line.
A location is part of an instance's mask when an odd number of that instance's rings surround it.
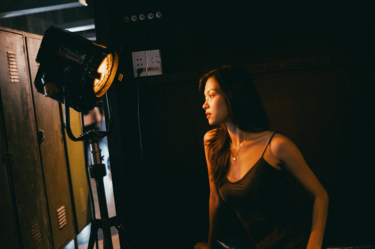
M 248 242 L 245 248 L 321 248 L 328 195 L 296 145 L 268 127 L 258 93 L 244 70 L 225 66 L 204 75 L 199 83 L 210 125 L 204 136 L 210 181 L 208 243 L 217 248 L 217 214 L 226 203 L 237 213 Z M 314 200 L 306 233 L 296 218 L 288 191 L 294 177 Z M 229 247 L 226 247 L 229 248 Z

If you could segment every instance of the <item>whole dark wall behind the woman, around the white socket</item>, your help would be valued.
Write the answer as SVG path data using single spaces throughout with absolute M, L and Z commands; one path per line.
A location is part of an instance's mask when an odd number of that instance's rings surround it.
M 116 211 L 132 248 L 207 239 L 202 137 L 210 127 L 197 84 L 223 64 L 253 74 L 272 129 L 297 144 L 327 189 L 325 244 L 373 243 L 372 6 L 249 2 L 94 1 L 98 41 L 123 47 L 126 58 L 124 80 L 109 92 L 108 142 Z M 156 11 L 162 18 L 123 22 Z M 161 49 L 164 74 L 134 79 L 131 52 L 150 49 Z

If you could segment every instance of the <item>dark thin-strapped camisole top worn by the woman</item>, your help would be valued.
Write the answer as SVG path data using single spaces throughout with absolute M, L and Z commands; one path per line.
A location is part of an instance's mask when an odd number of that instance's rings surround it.
M 261 158 L 238 181 L 228 179 L 219 187 L 222 199 L 236 212 L 249 239 L 248 248 L 306 248 L 306 223 L 296 216 L 288 191 L 288 173 Z

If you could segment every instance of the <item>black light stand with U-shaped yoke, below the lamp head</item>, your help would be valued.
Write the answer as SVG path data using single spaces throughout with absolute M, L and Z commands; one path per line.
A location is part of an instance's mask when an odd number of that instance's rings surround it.
M 66 95 L 64 95 L 64 105 L 65 105 L 65 98 L 66 98 Z M 107 100 L 107 103 L 108 103 L 108 100 Z M 66 133 L 68 134 L 69 138 L 72 139 L 72 141 L 89 141 L 90 143 L 90 157 L 91 157 L 92 164 L 89 166 L 89 172 L 90 172 L 91 178 L 94 178 L 96 182 L 96 191 L 98 193 L 99 211 L 100 211 L 101 219 L 95 218 L 95 206 L 94 206 L 92 191 L 90 191 L 92 210 L 93 210 L 93 220 L 91 223 L 89 245 L 87 248 L 93 249 L 95 242 L 96 242 L 96 248 L 98 248 L 98 229 L 101 228 L 103 230 L 103 248 L 113 249 L 111 227 L 114 226 L 115 228 L 117 228 L 118 232 L 121 233 L 123 237 L 125 237 L 125 234 L 124 234 L 123 223 L 121 223 L 117 219 L 116 216 L 109 217 L 107 199 L 105 197 L 105 187 L 104 187 L 103 178 L 105 177 L 105 175 L 107 175 L 107 170 L 105 168 L 105 164 L 102 163 L 102 160 L 103 160 L 103 157 L 101 155 L 102 150 L 99 147 L 98 140 L 107 136 L 109 129 L 107 131 L 89 130 L 88 132 L 76 137 L 73 135 L 71 126 L 70 126 L 69 107 L 65 105 L 64 110 L 65 110 L 65 128 L 66 128 Z M 108 104 L 108 110 L 110 111 L 110 104 Z M 111 119 L 110 119 L 110 122 L 111 122 Z M 127 244 L 127 248 L 130 249 L 129 244 Z

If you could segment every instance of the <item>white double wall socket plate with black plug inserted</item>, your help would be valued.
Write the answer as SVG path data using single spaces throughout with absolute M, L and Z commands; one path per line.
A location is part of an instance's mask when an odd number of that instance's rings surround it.
M 160 49 L 132 52 L 134 77 L 162 74 Z

